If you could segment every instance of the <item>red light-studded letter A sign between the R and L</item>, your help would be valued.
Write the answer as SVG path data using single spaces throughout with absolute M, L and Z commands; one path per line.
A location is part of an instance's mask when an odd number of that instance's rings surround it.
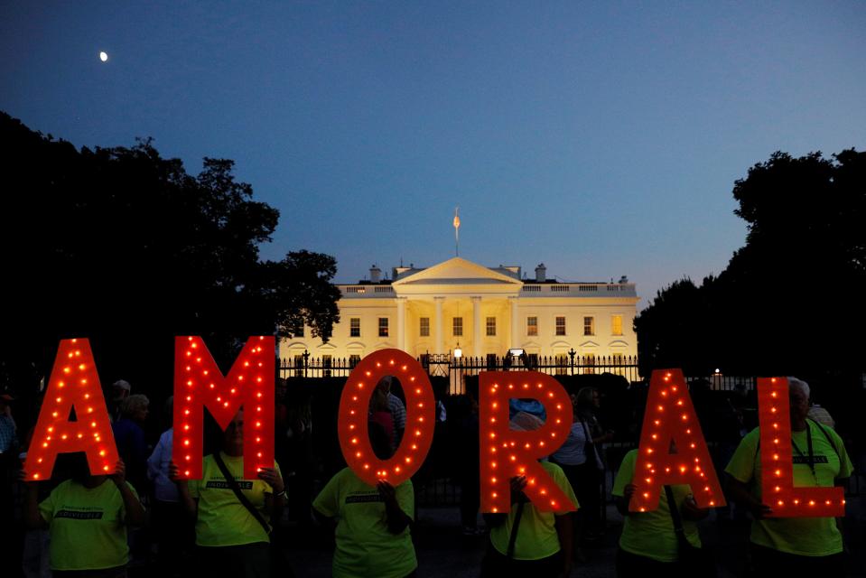
M 632 512 L 658 508 L 661 489 L 669 484 L 689 484 L 701 508 L 725 504 L 680 369 L 653 371 L 633 483 L 638 491 L 629 502 Z

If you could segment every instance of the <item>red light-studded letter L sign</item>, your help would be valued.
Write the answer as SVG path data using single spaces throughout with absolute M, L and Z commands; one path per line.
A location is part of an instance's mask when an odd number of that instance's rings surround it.
M 843 517 L 842 488 L 796 488 L 791 454 L 791 415 L 787 378 L 758 379 L 760 467 L 768 517 Z

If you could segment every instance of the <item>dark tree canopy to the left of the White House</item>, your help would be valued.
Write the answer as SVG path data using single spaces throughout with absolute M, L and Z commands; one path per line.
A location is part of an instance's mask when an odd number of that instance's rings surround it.
M 202 335 L 224 370 L 249 335 L 306 323 L 330 337 L 333 257 L 262 261 L 279 212 L 232 161 L 191 175 L 150 140 L 77 150 L 3 113 L 0 135 L 7 378 L 44 373 L 58 340 L 89 337 L 104 382 L 167 392 L 175 335 Z

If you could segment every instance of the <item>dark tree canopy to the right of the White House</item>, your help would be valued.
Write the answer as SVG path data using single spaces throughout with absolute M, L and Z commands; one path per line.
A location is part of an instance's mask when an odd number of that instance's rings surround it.
M 675 282 L 640 313 L 644 371 L 863 370 L 866 154 L 776 153 L 733 196 L 745 246 L 718 277 Z

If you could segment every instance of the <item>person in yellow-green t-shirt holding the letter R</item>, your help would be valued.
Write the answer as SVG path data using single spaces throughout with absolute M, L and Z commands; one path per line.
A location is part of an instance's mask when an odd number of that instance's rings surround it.
M 543 424 L 535 415 L 519 412 L 510 428 L 533 431 Z M 540 461 L 554 483 L 575 508 L 580 508 L 563 469 Z M 526 476 L 511 479 L 511 509 L 507 514 L 485 514 L 490 546 L 481 563 L 482 578 L 568 576 L 572 569 L 573 519 L 571 512 L 543 512 L 526 498 Z

